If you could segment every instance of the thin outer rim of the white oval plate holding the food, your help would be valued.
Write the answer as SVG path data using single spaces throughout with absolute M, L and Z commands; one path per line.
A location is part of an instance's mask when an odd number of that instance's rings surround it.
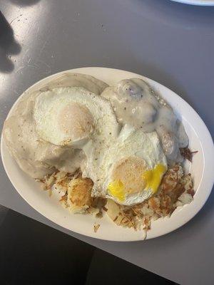
M 151 78 L 147 78 L 146 76 L 141 76 L 140 74 L 137 74 L 137 73 L 133 73 L 131 71 L 123 71 L 123 70 L 120 70 L 120 69 L 116 69 L 116 68 L 103 68 L 103 67 L 83 67 L 83 68 L 73 68 L 73 69 L 69 69 L 69 70 L 66 70 L 66 71 L 60 71 L 58 73 L 54 73 L 52 74 L 51 76 L 47 76 L 46 78 L 42 78 L 40 81 L 37 81 L 36 83 L 34 83 L 32 86 L 29 86 L 29 88 L 27 88 L 24 93 L 22 93 L 17 99 L 16 101 L 14 102 L 14 104 L 12 105 L 11 109 L 9 110 L 9 113 L 7 115 L 6 118 L 9 117 L 11 111 L 13 110 L 13 108 L 15 107 L 16 103 L 21 99 L 21 97 L 29 91 L 30 88 L 34 88 L 34 86 L 38 85 L 39 83 L 42 83 L 42 81 L 46 81 L 48 80 L 49 78 L 54 78 L 55 76 L 59 76 L 61 73 L 87 73 L 86 71 L 94 71 L 94 70 L 99 70 L 101 72 L 102 71 L 105 71 L 105 70 L 108 70 L 108 71 L 111 71 L 111 72 L 122 72 L 122 73 L 129 73 L 130 76 L 137 76 L 138 78 L 145 78 L 146 80 L 152 82 L 153 84 L 155 84 L 156 86 L 161 86 L 161 88 L 165 88 L 167 89 L 171 95 L 173 95 L 175 98 L 177 98 L 178 100 L 180 100 L 180 102 L 183 102 L 185 103 L 185 105 L 188 106 L 188 108 L 190 108 L 190 110 L 195 113 L 195 115 L 197 116 L 199 122 L 200 122 L 200 125 L 201 127 L 203 128 L 203 130 L 205 130 L 205 136 L 207 138 L 207 141 L 208 141 L 208 145 L 210 145 L 211 147 L 211 152 L 213 151 L 213 155 L 214 155 L 214 145 L 213 145 L 213 140 L 212 140 L 212 137 L 210 135 L 210 132 L 208 130 L 208 128 L 206 127 L 205 123 L 203 122 L 203 120 L 200 118 L 200 116 L 198 115 L 198 113 L 183 99 L 181 98 L 178 94 L 174 93 L 173 90 L 170 90 L 169 88 L 163 86 L 161 83 L 158 83 L 157 81 L 153 81 Z M 87 73 L 87 74 L 90 74 L 90 73 Z M 93 74 L 92 74 L 93 76 Z M 4 147 L 6 147 L 5 143 L 4 143 L 4 139 L 3 139 L 3 136 L 2 136 L 2 133 L 1 133 L 1 159 L 2 159 L 2 162 L 3 162 L 3 165 L 4 165 L 4 170 L 6 171 L 6 174 L 7 176 L 9 177 L 9 180 L 11 182 L 11 184 L 14 186 L 14 188 L 16 189 L 16 191 L 19 193 L 19 195 L 21 195 L 21 197 L 31 206 L 33 207 L 34 209 L 36 209 L 37 212 L 39 212 L 40 214 L 44 215 L 44 217 L 46 217 L 47 219 L 51 220 L 51 222 L 54 222 L 56 224 L 58 224 L 59 226 L 61 227 L 64 227 L 70 231 L 73 231 L 73 232 L 76 232 L 78 234 L 83 234 L 87 237 L 93 237 L 93 238 L 96 238 L 96 239 L 103 239 L 103 240 L 108 240 L 108 241 L 113 241 L 113 242 L 133 242 L 133 241 L 139 241 L 139 240 L 142 240 L 139 239 L 139 238 L 133 238 L 133 239 L 109 239 L 109 238 L 105 238 L 105 237 L 100 237 L 99 234 L 98 235 L 94 235 L 94 234 L 84 234 L 82 231 L 76 231 L 76 230 L 73 230 L 69 227 L 65 227 L 64 225 L 62 225 L 60 222 L 57 222 L 56 219 L 53 219 L 53 218 L 50 218 L 48 217 L 48 215 L 44 212 L 41 212 L 33 203 L 29 202 L 26 197 L 24 197 L 23 193 L 21 192 L 21 190 L 17 189 L 16 188 L 16 185 L 14 185 L 14 182 L 12 181 L 8 171 L 7 171 L 7 167 L 6 167 L 6 164 L 5 164 L 5 161 L 4 161 Z M 204 154 L 203 154 L 204 155 Z M 12 157 L 11 157 L 12 158 Z M 13 159 L 13 158 L 12 158 Z M 213 165 L 214 167 L 214 163 L 212 160 L 210 160 L 211 162 L 211 165 Z M 203 170 L 204 172 L 204 170 Z M 203 173 L 204 175 L 204 173 Z M 214 181 L 213 181 L 214 182 Z M 149 237 L 148 239 L 152 239 L 152 238 L 155 238 L 155 237 L 161 237 L 165 234 L 168 234 L 169 232 L 173 232 L 175 229 L 178 229 L 179 227 L 182 227 L 184 224 L 186 224 L 190 219 L 192 219 L 195 214 L 198 214 L 198 212 L 200 211 L 200 209 L 202 209 L 203 205 L 205 204 L 205 202 L 207 201 L 209 195 L 210 195 L 210 192 L 212 191 L 212 187 L 213 187 L 213 182 L 210 181 L 210 183 L 208 183 L 208 187 L 206 188 L 207 191 L 205 192 L 205 197 L 203 198 L 203 202 L 200 202 L 200 204 L 198 205 L 198 207 L 195 209 L 195 211 L 193 211 L 193 214 L 190 214 L 190 216 L 188 217 L 188 219 L 184 219 L 183 222 L 181 222 L 180 224 L 178 224 L 177 226 L 175 226 L 173 229 L 169 229 L 168 231 L 165 231 L 163 232 L 162 234 L 157 234 L 153 237 Z

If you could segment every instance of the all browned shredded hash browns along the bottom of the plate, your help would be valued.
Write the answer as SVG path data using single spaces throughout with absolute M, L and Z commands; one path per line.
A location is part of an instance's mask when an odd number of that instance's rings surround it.
M 80 171 L 73 175 L 56 171 L 41 182 L 45 190 L 51 191 L 52 187 L 60 190 L 63 193 L 61 204 L 75 214 L 102 217 L 106 213 L 118 226 L 146 231 L 151 229 L 151 220 L 170 216 L 176 207 L 190 203 L 194 195 L 191 176 L 184 175 L 180 165 L 168 169 L 156 195 L 134 206 L 117 204 L 112 199 L 91 197 L 93 182 L 81 177 Z M 97 230 L 98 227 L 94 227 L 94 232 Z

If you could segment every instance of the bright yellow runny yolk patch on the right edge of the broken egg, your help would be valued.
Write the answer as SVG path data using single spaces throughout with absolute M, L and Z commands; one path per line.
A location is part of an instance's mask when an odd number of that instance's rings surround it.
M 158 191 L 158 187 L 161 184 L 161 179 L 166 171 L 164 165 L 156 165 L 153 170 L 146 170 L 143 172 L 142 178 L 146 181 L 146 190 L 151 189 L 153 193 Z

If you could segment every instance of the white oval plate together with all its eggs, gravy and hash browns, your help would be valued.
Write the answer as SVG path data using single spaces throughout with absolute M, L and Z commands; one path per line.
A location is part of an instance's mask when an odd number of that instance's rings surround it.
M 113 68 L 63 71 L 27 89 L 4 122 L 1 157 L 31 207 L 111 241 L 178 229 L 213 187 L 213 140 L 195 110 Z

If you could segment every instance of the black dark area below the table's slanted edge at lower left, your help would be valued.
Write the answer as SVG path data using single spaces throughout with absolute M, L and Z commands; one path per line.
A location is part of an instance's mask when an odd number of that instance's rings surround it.
M 2 285 L 174 284 L 11 210 L 0 226 L 0 268 Z

